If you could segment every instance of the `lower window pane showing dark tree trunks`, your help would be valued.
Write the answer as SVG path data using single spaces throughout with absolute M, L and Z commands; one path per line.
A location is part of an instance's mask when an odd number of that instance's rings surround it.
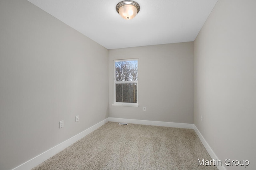
M 116 102 L 137 103 L 137 83 L 116 84 Z

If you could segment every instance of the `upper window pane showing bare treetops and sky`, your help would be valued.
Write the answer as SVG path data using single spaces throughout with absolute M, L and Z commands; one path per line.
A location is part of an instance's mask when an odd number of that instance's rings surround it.
M 138 81 L 138 61 L 116 61 L 116 82 Z

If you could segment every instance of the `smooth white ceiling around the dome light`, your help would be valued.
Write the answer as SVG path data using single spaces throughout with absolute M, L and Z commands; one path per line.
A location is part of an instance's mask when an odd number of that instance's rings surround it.
M 122 0 L 28 0 L 107 49 L 194 41 L 218 0 L 134 0 L 140 12 L 124 20 Z

